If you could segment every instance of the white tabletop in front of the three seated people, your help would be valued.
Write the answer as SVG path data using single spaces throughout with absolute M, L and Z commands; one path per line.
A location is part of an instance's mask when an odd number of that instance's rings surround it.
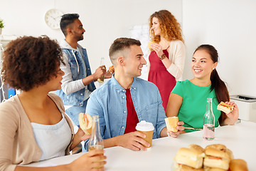
M 249 170 L 256 170 L 256 123 L 242 121 L 231 126 L 223 126 L 215 129 L 215 140 L 203 140 L 203 132 L 186 133 L 178 138 L 159 138 L 153 140 L 148 151 L 135 152 L 123 147 L 110 147 L 105 149 L 107 156 L 107 171 L 122 170 L 174 170 L 174 156 L 180 147 L 188 147 L 190 144 L 206 145 L 221 143 L 233 151 L 235 158 L 241 158 L 248 164 Z M 78 155 L 58 157 L 43 162 L 32 163 L 29 166 L 61 165 L 72 162 Z

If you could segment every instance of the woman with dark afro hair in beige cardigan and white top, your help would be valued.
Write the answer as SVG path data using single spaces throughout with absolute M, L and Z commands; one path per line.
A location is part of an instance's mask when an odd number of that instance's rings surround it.
M 61 62 L 60 46 L 47 36 L 24 36 L 7 45 L 2 78 L 22 92 L 0 104 L 0 170 L 94 170 L 105 165 L 98 162 L 105 159 L 103 150 L 93 150 L 68 165 L 23 166 L 68 155 L 89 138 L 81 129 L 74 134 L 62 100 L 49 93 L 61 88 Z

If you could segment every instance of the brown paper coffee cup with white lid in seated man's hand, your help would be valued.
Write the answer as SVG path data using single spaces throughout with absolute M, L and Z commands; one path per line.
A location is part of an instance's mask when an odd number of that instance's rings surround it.
M 146 142 L 149 142 L 150 146 L 152 145 L 154 125 L 152 123 L 147 123 L 145 120 L 142 120 L 140 123 L 137 123 L 136 130 L 140 133 L 144 133 L 146 138 L 143 138 Z

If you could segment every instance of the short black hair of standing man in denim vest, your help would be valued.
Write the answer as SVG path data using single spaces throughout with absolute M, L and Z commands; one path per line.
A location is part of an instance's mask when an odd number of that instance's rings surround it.
M 60 29 L 67 36 L 67 27 L 73 24 L 75 19 L 79 18 L 79 14 L 64 14 L 60 19 Z

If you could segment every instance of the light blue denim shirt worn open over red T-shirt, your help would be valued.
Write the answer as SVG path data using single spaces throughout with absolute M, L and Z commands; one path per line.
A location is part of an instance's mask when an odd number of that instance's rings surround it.
M 166 127 L 166 115 L 158 88 L 154 83 L 134 78 L 130 91 L 139 122 L 146 120 L 153 123 L 153 138 L 160 138 L 161 130 Z M 99 115 L 100 133 L 104 139 L 124 134 L 127 123 L 125 92 L 112 76 L 110 81 L 90 94 L 86 113 Z

